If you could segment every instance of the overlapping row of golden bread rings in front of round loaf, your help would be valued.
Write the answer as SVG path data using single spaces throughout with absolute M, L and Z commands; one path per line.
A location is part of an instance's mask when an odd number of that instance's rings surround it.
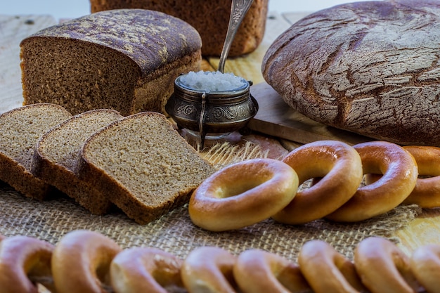
M 299 188 L 309 180 L 309 188 Z M 440 206 L 440 148 L 307 143 L 282 160 L 249 159 L 217 171 L 194 191 L 188 210 L 196 226 L 222 231 L 268 218 L 290 225 L 363 221 L 399 204 Z

